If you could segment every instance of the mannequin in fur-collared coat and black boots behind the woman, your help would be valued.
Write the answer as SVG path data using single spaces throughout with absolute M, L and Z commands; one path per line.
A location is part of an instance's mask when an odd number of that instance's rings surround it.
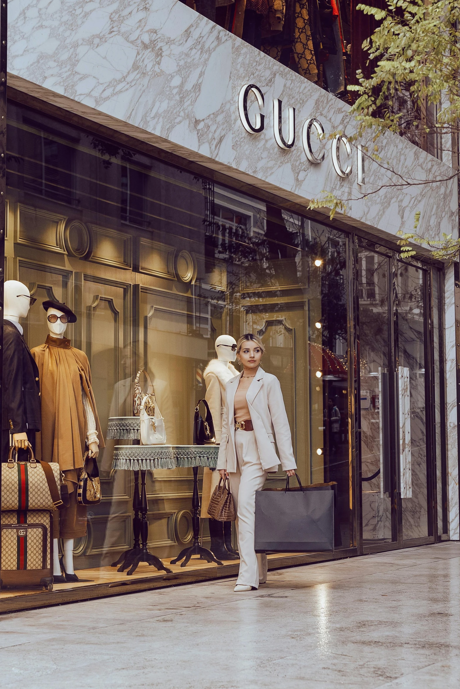
M 238 376 L 239 371 L 232 366 L 237 358 L 237 342 L 230 335 L 221 335 L 214 345 L 217 359 L 212 359 L 203 373 L 206 383 L 206 402 L 212 414 L 216 442 L 221 442 L 222 416 L 225 407 L 226 384 Z M 233 349 L 232 349 L 233 347 Z M 212 491 L 219 483 L 219 472 L 203 470 L 203 493 L 201 495 L 201 518 L 208 518 L 208 505 Z M 232 546 L 232 522 L 217 522 L 209 519 L 211 537 L 210 550 L 218 559 L 238 559 Z

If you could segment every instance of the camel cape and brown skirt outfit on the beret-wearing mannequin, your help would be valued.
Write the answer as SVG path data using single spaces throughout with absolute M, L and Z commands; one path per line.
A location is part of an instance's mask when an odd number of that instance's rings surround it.
M 41 384 L 41 433 L 37 435 L 37 458 L 59 462 L 68 485 L 70 506 L 54 519 L 54 538 L 77 538 L 86 534 L 86 506 L 77 503 L 77 484 L 83 468 L 86 444 L 103 436 L 92 392 L 86 354 L 71 347 L 68 338 L 48 335 L 44 345 L 34 347 Z

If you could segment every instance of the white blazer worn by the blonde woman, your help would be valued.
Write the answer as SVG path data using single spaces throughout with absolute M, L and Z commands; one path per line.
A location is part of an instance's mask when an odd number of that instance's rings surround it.
M 230 473 L 237 471 L 237 452 L 234 444 L 234 395 L 242 375 L 243 373 L 239 373 L 236 378 L 232 378 L 226 384 L 226 407 L 223 412 L 217 469 L 226 469 Z M 263 470 L 277 471 L 279 464 L 283 471 L 297 469 L 292 452 L 288 415 L 278 378 L 272 376 L 271 373 L 266 373 L 259 366 L 246 393 L 246 401 Z M 277 438 L 281 462 L 274 449 L 274 435 Z

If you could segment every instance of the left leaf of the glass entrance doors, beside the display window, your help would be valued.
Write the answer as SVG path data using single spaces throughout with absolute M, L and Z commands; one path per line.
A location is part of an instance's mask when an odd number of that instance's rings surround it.
M 363 546 L 397 540 L 390 258 L 359 251 Z

